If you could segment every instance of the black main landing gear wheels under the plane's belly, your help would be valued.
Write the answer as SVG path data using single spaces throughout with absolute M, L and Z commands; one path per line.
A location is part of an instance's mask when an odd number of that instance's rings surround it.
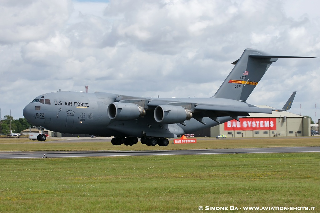
M 147 146 L 156 146 L 157 144 L 159 146 L 168 146 L 169 145 L 169 140 L 166 138 L 159 138 L 159 137 L 142 137 L 140 139 L 142 144 L 146 144 Z M 132 146 L 133 144 L 138 143 L 138 138 L 135 137 L 114 137 L 111 139 L 112 145 L 118 145 L 120 146 L 121 144 L 124 144 L 126 146 Z

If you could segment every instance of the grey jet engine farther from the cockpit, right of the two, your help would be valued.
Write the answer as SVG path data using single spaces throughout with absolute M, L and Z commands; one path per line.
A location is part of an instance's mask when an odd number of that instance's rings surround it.
M 192 118 L 192 113 L 180 106 L 159 105 L 154 111 L 154 117 L 158 123 L 176 124 Z

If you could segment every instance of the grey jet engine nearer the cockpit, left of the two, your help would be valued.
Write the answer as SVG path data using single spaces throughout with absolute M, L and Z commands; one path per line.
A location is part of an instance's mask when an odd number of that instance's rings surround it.
M 146 110 L 134 103 L 115 102 L 108 106 L 108 116 L 111 120 L 134 120 L 144 115 Z

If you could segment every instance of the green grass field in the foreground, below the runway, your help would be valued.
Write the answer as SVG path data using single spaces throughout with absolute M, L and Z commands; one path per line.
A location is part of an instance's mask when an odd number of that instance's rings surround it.
M 319 159 L 285 153 L 0 160 L 0 212 L 319 212 Z

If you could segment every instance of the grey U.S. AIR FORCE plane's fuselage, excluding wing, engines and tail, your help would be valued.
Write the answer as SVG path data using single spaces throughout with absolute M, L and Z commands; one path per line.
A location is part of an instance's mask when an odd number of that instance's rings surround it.
M 204 125 L 191 118 L 185 121 L 185 125 L 159 125 L 154 119 L 152 107 L 147 110 L 143 118 L 128 121 L 111 120 L 108 117 L 108 105 L 116 102 L 119 96 L 104 92 L 52 92 L 37 96 L 24 108 L 23 115 L 34 126 L 54 132 L 101 136 L 141 137 L 148 133 L 153 136 L 172 138 L 219 124 L 210 118 L 204 118 Z M 207 104 L 213 102 L 226 104 L 227 102 L 230 105 L 238 102 L 229 99 L 220 100 L 220 98 L 148 98 L 147 100 Z M 230 117 L 219 119 L 221 123 L 232 120 Z

